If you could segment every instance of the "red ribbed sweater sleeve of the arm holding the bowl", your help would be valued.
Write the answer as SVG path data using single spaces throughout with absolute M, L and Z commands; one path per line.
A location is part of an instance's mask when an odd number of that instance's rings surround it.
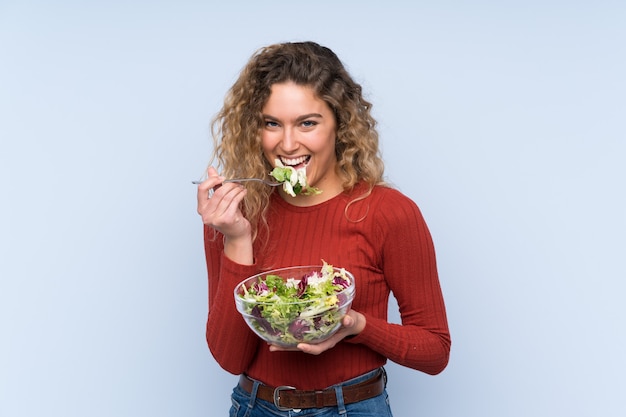
M 377 210 L 385 280 L 402 324 L 366 315 L 365 329 L 349 339 L 410 368 L 435 375 L 447 366 L 450 334 L 437 274 L 435 250 L 419 208 L 392 191 Z

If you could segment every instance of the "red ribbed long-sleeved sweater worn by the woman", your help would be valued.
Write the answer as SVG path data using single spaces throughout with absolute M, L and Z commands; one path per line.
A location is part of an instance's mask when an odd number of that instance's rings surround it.
M 415 203 L 386 187 L 375 187 L 346 209 L 365 190 L 361 184 L 312 207 L 293 206 L 274 193 L 268 211 L 271 235 L 256 240 L 254 265 L 228 259 L 222 237 L 212 238 L 212 229 L 205 227 L 206 336 L 222 368 L 272 386 L 311 390 L 361 375 L 387 359 L 429 374 L 446 367 L 450 334 L 426 223 Z M 365 315 L 365 329 L 317 356 L 270 352 L 237 312 L 235 286 L 268 269 L 321 265 L 322 259 L 354 274 L 352 308 Z M 390 291 L 398 301 L 401 325 L 387 322 Z

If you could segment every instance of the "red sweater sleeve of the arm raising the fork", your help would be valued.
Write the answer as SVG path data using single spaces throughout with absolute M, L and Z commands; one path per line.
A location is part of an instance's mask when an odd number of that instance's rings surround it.
M 248 368 L 260 339 L 237 311 L 233 292 L 237 284 L 258 272 L 257 267 L 230 260 L 224 254 L 222 236 L 206 226 L 204 246 L 209 278 L 207 343 L 220 366 L 238 375 Z

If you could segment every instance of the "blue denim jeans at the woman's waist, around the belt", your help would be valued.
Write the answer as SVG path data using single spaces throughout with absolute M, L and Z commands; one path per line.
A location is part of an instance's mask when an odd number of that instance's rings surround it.
M 253 397 L 239 385 L 233 389 L 230 417 L 393 417 L 389 407 L 387 390 L 382 394 L 352 404 L 343 404 L 341 386 L 352 385 L 371 378 L 378 372 L 374 370 L 335 386 L 340 401 L 338 405 L 324 408 L 305 408 L 300 411 L 281 411 L 274 403 Z M 254 391 L 254 389 L 253 389 Z

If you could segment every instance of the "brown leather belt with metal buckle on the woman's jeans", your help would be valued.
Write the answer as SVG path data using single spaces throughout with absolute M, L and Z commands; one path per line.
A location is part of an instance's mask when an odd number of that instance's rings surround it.
M 385 390 L 386 375 L 380 369 L 370 379 L 342 386 L 344 404 L 351 404 L 368 398 L 376 397 Z M 252 393 L 254 381 L 246 375 L 239 377 L 239 386 L 246 392 Z M 322 408 L 337 405 L 337 394 L 334 388 L 322 391 L 301 391 L 289 386 L 270 387 L 260 384 L 256 393 L 257 398 L 274 403 L 279 410 L 302 408 Z

